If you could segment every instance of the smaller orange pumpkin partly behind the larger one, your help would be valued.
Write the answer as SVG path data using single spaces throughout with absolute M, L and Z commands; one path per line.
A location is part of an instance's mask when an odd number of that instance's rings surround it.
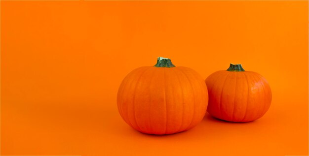
M 207 112 L 230 122 L 250 122 L 261 118 L 270 108 L 271 91 L 266 79 L 241 64 L 217 71 L 206 79 Z

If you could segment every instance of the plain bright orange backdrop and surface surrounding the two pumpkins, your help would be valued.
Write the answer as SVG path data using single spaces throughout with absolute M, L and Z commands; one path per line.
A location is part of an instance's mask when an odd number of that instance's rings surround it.
M 269 81 L 270 110 L 142 134 L 116 93 L 158 56 L 204 78 L 242 63 Z M 1 1 L 0 141 L 1 155 L 308 155 L 308 1 Z

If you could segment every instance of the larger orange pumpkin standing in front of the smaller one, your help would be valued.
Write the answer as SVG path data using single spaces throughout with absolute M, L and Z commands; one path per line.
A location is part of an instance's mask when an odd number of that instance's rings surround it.
M 154 66 L 131 71 L 117 94 L 118 110 L 134 129 L 149 134 L 171 134 L 197 125 L 207 109 L 203 78 L 188 67 L 175 67 L 158 58 Z

